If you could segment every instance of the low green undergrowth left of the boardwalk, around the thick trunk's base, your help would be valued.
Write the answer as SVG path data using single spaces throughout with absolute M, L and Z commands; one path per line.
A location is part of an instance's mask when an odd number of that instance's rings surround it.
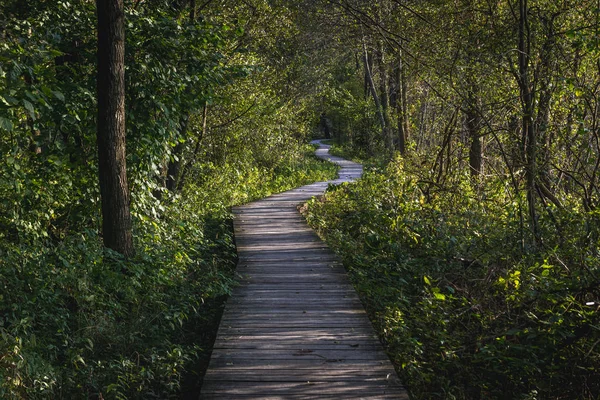
M 137 254 L 129 260 L 103 249 L 97 219 L 26 229 L 35 213 L 40 220 L 52 212 L 44 202 L 23 205 L 29 216 L 3 220 L 25 228 L 0 241 L 0 398 L 197 398 L 235 285 L 229 209 L 333 178 L 336 167 L 312 150 L 270 168 L 248 160 L 204 163 L 201 180 L 161 200 L 152 194 L 156 187 L 134 182 Z M 54 207 L 80 202 L 64 185 L 40 193 Z M 94 209 L 91 197 L 84 204 Z

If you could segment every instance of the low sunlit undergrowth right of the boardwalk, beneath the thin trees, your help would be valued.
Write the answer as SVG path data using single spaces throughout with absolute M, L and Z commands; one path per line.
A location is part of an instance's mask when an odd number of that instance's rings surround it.
M 305 211 L 412 397 L 599 398 L 598 213 L 547 209 L 528 248 L 502 181 L 437 187 L 414 165 L 371 167 Z

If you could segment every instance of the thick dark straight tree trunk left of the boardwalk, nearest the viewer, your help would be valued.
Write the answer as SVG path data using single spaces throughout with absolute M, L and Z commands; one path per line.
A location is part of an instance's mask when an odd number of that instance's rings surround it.
M 125 162 L 125 25 L 123 0 L 97 0 L 98 176 L 104 245 L 133 254 Z

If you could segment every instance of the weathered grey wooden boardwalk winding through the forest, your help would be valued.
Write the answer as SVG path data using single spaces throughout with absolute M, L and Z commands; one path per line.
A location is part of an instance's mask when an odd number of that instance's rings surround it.
M 342 166 L 332 183 L 361 175 L 327 152 Z M 201 399 L 408 399 L 343 266 L 297 211 L 329 183 L 234 209 L 241 283 Z

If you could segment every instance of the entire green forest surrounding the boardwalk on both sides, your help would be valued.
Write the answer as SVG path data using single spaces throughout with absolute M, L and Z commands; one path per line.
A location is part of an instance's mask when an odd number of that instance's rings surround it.
M 0 397 L 193 397 L 230 207 L 334 176 L 321 135 L 367 172 L 305 215 L 414 398 L 600 396 L 597 2 L 109 2 L 126 245 L 97 3 L 0 4 Z

